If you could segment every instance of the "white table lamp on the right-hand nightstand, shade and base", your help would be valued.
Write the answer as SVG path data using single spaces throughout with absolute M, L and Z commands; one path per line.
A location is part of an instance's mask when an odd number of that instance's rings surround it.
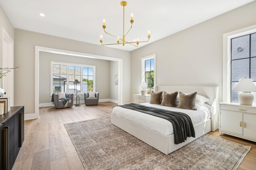
M 252 105 L 254 96 L 250 92 L 256 92 L 256 86 L 250 78 L 241 78 L 233 91 L 242 92 L 238 95 L 241 105 Z

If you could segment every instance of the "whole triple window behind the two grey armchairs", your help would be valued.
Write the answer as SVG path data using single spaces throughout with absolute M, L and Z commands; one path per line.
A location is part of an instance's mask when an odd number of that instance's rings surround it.
M 51 95 L 55 92 L 95 91 L 95 66 L 58 62 L 51 62 L 51 65 Z M 74 84 L 75 80 L 80 84 Z

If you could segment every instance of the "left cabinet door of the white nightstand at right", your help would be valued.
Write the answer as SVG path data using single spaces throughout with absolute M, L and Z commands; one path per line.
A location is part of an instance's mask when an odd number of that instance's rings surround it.
M 243 113 L 236 111 L 220 111 L 220 130 L 243 135 Z

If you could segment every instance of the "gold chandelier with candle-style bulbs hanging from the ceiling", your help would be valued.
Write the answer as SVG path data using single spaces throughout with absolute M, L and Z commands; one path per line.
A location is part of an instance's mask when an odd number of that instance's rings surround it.
M 127 5 L 127 2 L 125 1 L 122 1 L 121 2 L 121 6 L 125 7 Z M 130 23 L 131 23 L 131 27 L 130 29 L 128 30 L 128 32 L 132 29 L 132 24 L 133 24 L 134 20 L 133 20 L 133 16 L 131 16 L 131 20 L 130 20 Z M 137 41 L 134 41 L 134 42 L 127 42 L 125 41 L 125 37 L 126 35 L 128 34 L 128 32 L 126 34 L 124 34 L 124 12 L 123 12 L 123 38 L 120 39 L 119 37 L 115 36 L 115 35 L 112 35 L 110 33 L 107 33 L 106 32 L 106 22 L 105 20 L 103 20 L 103 25 L 102 25 L 103 29 L 104 29 L 104 32 L 108 35 L 111 35 L 113 37 L 115 37 L 117 39 L 117 43 L 112 43 L 112 44 L 102 44 L 102 36 L 100 37 L 100 43 L 101 45 L 119 45 L 119 44 L 122 44 L 122 45 L 125 45 L 125 44 L 131 44 L 131 45 L 134 45 L 135 47 L 138 47 L 139 43 L 145 43 L 145 42 L 148 42 L 149 39 L 150 39 L 150 31 L 148 31 L 148 41 L 139 41 L 139 39 L 137 39 Z M 136 44 L 136 45 L 135 45 Z

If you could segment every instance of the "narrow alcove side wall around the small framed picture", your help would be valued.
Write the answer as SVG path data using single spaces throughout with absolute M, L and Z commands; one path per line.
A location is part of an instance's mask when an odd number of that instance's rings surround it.
M 118 62 L 110 61 L 110 99 L 118 101 L 118 85 L 115 84 L 115 75 L 118 75 Z

